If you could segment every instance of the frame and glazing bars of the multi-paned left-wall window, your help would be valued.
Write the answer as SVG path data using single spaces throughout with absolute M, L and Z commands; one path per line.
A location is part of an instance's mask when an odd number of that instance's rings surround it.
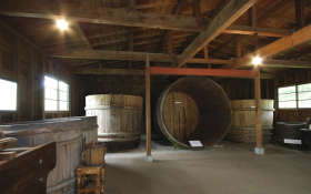
M 53 101 L 57 101 L 57 110 L 56 111 L 47 111 L 46 110 L 46 100 L 52 100 L 52 99 L 46 99 L 46 76 L 50 78 L 50 79 L 53 79 L 57 81 L 57 100 L 53 100 Z M 68 85 L 68 101 L 61 101 L 60 100 L 60 91 L 64 92 L 63 90 L 60 90 L 59 89 L 59 82 L 63 82 Z M 69 113 L 71 112 L 71 94 L 70 94 L 70 84 L 64 82 L 63 80 L 60 80 L 53 75 L 49 75 L 49 74 L 44 74 L 43 75 L 43 109 L 44 109 L 44 113 Z M 63 111 L 63 110 L 60 110 L 60 102 L 68 102 L 68 110 L 67 111 Z

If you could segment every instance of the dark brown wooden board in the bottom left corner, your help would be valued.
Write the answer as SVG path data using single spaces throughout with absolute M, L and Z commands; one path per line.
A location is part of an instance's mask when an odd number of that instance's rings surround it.
M 1 194 L 42 194 L 48 173 L 57 163 L 56 143 L 43 144 L 0 163 Z

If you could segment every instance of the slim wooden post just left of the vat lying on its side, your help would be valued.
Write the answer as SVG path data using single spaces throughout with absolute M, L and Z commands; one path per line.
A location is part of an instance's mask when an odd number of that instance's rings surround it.
M 147 151 L 147 160 L 152 161 L 152 157 L 151 157 L 151 109 L 150 109 L 150 61 L 149 61 L 149 54 L 147 54 L 147 59 L 146 59 L 144 80 L 146 80 L 146 151 Z

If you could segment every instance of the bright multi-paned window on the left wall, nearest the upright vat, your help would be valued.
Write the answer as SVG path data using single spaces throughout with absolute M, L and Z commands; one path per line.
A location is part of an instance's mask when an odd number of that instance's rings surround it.
M 69 111 L 69 85 L 62 81 L 44 76 L 44 110 Z

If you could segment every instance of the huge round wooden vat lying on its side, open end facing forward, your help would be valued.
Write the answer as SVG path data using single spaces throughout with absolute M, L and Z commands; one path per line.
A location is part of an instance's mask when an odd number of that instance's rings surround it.
M 190 147 L 189 141 L 195 140 L 208 146 L 222 140 L 230 127 L 230 101 L 211 79 L 182 78 L 161 94 L 156 116 L 175 146 Z

